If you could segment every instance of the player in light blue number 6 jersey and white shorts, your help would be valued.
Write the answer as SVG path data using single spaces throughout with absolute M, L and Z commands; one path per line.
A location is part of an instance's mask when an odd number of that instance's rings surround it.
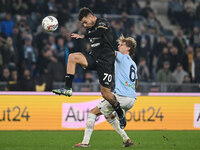
M 122 35 L 118 39 L 118 43 L 118 52 L 115 52 L 114 95 L 120 103 L 121 108 L 126 112 L 133 107 L 136 100 L 135 88 L 137 87 L 138 79 L 137 66 L 131 58 L 135 53 L 136 41 L 131 37 L 125 38 Z M 120 128 L 117 113 L 114 111 L 112 105 L 108 101 L 102 100 L 95 108 L 90 110 L 83 141 L 74 145 L 74 147 L 90 147 L 89 141 L 94 129 L 95 119 L 102 114 L 115 131 L 122 137 L 123 146 L 132 146 L 133 142 L 128 137 L 124 129 Z

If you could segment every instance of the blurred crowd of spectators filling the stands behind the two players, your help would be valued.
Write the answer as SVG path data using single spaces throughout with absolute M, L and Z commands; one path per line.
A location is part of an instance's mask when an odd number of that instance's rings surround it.
M 49 91 L 52 82 L 64 81 L 67 56 L 90 50 L 87 39 L 71 38 L 72 32 L 85 32 L 73 17 L 83 6 L 101 16 L 120 15 L 109 18 L 113 36 L 136 39 L 133 59 L 140 82 L 200 83 L 199 0 L 169 1 L 168 18 L 180 26 L 176 35 L 163 28 L 149 0 L 144 7 L 137 0 L 0 0 L 0 82 L 8 83 L 4 90 Z M 54 33 L 41 27 L 47 15 L 58 19 Z M 113 45 L 117 50 L 117 43 Z M 98 82 L 97 75 L 77 66 L 74 82 Z

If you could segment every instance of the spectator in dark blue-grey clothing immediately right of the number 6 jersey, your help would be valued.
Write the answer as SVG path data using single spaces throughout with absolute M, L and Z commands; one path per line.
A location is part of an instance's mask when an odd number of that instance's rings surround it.
M 146 65 L 146 60 L 144 58 L 140 58 L 140 62 L 138 65 L 138 76 L 139 76 L 139 81 L 143 82 L 150 81 L 149 69 Z

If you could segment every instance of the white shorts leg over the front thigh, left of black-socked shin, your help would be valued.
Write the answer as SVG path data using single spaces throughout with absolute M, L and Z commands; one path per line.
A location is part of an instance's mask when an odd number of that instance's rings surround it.
M 100 112 L 108 118 L 112 112 L 114 111 L 112 105 L 107 100 L 102 100 L 97 107 L 99 108 Z

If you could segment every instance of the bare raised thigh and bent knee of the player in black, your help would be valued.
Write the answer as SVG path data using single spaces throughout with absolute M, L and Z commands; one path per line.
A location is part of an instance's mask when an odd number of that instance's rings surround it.
M 82 67 L 87 67 L 88 62 L 86 57 L 83 55 L 83 53 L 71 53 L 69 55 L 69 60 L 75 61 L 77 64 L 81 65 Z

